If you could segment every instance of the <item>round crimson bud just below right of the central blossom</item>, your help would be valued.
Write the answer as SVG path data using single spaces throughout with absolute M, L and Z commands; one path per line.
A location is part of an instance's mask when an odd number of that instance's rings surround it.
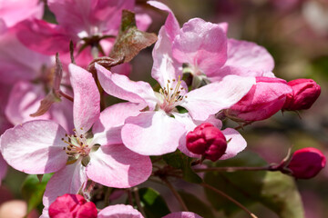
M 201 154 L 213 162 L 225 153 L 227 140 L 217 127 L 210 123 L 197 126 L 187 134 L 187 148 L 193 154 Z

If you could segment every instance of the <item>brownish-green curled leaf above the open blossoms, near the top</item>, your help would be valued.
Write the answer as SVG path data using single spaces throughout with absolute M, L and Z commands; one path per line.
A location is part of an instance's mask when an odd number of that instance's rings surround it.
M 157 35 L 138 30 L 134 13 L 123 10 L 118 38 L 109 57 L 113 59 L 124 58 L 124 62 L 129 62 L 142 49 L 156 41 Z

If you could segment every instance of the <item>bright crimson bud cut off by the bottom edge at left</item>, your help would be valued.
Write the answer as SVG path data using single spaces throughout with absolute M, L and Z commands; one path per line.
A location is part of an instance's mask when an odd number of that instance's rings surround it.
M 66 193 L 50 204 L 49 216 L 50 218 L 97 218 L 97 207 L 95 203 L 87 202 L 79 194 Z

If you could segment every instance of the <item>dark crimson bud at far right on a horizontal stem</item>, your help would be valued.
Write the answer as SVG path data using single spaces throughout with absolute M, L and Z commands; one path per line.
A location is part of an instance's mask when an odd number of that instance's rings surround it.
M 298 179 L 310 179 L 325 166 L 326 159 L 321 151 L 308 147 L 292 154 L 291 161 L 284 166 L 292 171 L 292 176 Z

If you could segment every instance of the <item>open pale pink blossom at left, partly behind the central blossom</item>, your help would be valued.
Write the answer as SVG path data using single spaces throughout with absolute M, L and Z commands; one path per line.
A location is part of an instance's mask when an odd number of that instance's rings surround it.
M 45 206 L 58 195 L 77 193 L 87 178 L 126 188 L 144 182 L 151 173 L 149 157 L 129 151 L 119 136 L 124 120 L 136 115 L 139 106 L 115 104 L 100 114 L 100 96 L 92 74 L 75 64 L 69 65 L 69 72 L 74 134 L 67 134 L 53 121 L 36 120 L 18 124 L 1 137 L 1 152 L 15 169 L 34 174 L 56 172 L 46 186 Z M 92 126 L 93 136 L 88 134 Z

